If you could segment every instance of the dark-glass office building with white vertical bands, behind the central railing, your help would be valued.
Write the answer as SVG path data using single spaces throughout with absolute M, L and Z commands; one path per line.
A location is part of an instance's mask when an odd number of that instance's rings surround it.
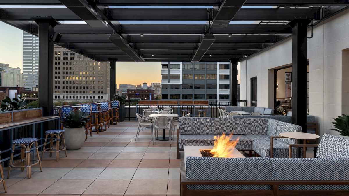
M 161 65 L 163 100 L 230 100 L 229 62 L 162 62 Z

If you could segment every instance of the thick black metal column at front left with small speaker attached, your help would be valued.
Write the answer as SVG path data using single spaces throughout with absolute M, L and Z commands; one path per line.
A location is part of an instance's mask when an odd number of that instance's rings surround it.
M 39 25 L 39 107 L 43 116 L 53 115 L 53 27 L 59 24 L 52 17 L 33 18 Z

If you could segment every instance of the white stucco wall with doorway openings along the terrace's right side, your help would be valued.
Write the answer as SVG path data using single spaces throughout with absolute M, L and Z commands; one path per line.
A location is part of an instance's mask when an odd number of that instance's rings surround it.
M 320 135 L 337 135 L 330 130 L 332 119 L 349 114 L 349 9 L 322 21 L 313 34 L 308 39 L 310 114 L 316 116 Z M 291 63 L 291 38 L 240 62 L 241 99 L 251 104 L 250 78 L 257 77 L 257 106 L 273 108 L 273 69 Z

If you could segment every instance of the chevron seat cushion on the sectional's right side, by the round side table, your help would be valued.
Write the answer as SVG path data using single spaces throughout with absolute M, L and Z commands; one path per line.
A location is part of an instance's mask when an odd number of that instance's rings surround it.
M 252 150 L 262 157 L 270 157 L 270 139 L 269 140 L 252 140 Z M 288 157 L 288 144 L 274 139 L 273 157 Z M 292 157 L 297 157 L 297 148 L 292 148 Z

